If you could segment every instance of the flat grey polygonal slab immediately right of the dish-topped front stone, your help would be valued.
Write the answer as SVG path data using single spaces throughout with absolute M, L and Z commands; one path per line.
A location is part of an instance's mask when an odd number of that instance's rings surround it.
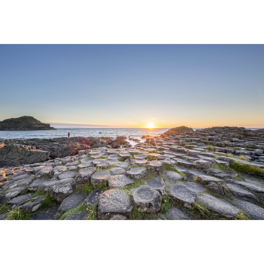
M 196 193 L 191 191 L 182 183 L 174 183 L 170 185 L 169 194 L 173 200 L 181 202 L 185 207 L 191 208 L 196 202 Z

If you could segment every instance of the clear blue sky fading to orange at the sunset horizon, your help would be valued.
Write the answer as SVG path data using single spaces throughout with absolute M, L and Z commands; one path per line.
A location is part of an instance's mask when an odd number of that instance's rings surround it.
M 264 127 L 264 45 L 0 45 L 0 58 L 0 120 Z

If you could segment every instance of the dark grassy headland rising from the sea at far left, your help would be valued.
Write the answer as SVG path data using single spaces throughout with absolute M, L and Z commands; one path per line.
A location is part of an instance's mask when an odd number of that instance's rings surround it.
M 20 116 L 0 121 L 0 130 L 54 130 L 50 124 L 45 124 L 33 116 Z

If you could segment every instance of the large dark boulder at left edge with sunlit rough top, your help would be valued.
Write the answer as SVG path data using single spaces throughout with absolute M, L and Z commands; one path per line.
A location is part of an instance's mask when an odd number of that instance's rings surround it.
M 50 152 L 19 144 L 0 144 L 0 166 L 20 166 L 48 160 Z

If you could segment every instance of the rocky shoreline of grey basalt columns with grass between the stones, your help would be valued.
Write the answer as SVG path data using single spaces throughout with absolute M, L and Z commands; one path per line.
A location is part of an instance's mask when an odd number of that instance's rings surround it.
M 0 151 L 46 160 L 1 163 L 1 218 L 264 220 L 264 131 L 167 132 L 134 147 L 122 136 L 2 140 Z

